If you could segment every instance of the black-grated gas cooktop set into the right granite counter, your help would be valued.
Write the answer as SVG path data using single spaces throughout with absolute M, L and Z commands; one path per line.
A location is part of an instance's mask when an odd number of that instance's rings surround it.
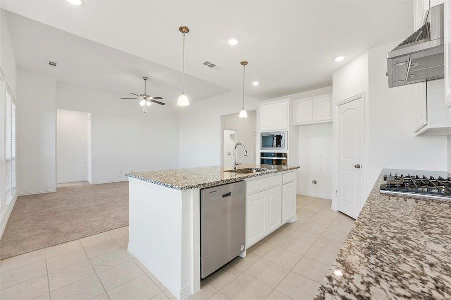
M 410 176 L 390 173 L 384 176 L 387 182 L 380 185 L 381 193 L 395 193 L 431 198 L 451 199 L 451 177 Z

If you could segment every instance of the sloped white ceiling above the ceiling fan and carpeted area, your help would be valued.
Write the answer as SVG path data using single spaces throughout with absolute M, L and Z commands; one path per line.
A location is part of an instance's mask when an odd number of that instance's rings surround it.
M 144 93 L 142 77 L 147 76 L 147 94 L 161 96 L 172 106 L 180 95 L 179 71 L 11 12 L 6 16 L 20 67 L 123 97 L 134 97 L 130 92 Z M 48 60 L 57 62 L 57 66 L 49 66 Z M 193 101 L 228 91 L 193 76 L 186 76 L 185 81 Z

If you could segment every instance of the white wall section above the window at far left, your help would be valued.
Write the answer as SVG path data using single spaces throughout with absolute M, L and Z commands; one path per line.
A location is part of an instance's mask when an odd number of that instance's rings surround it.
M 1 7 L 1 6 L 0 6 Z M 17 97 L 17 66 L 14 56 L 13 45 L 11 44 L 8 23 L 5 17 L 5 11 L 0 9 L 0 69 L 5 75 L 5 81 L 8 83 L 13 97 Z M 17 99 L 16 99 L 17 100 Z

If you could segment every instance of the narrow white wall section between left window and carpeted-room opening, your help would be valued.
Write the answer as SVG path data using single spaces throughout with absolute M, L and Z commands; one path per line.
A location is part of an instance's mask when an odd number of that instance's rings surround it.
M 55 191 L 55 78 L 18 68 L 17 187 L 19 194 Z

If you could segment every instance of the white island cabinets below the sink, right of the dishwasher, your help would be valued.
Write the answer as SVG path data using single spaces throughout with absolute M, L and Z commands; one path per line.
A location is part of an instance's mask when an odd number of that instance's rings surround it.
M 296 173 L 283 176 L 285 180 L 280 174 L 245 180 L 246 249 L 296 220 Z

